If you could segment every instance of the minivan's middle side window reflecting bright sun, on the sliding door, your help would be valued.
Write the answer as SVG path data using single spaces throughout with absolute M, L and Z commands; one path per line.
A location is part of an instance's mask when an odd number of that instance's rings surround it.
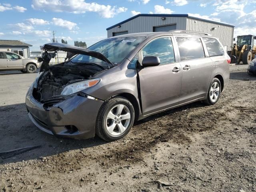
M 200 38 L 194 37 L 176 37 L 180 51 L 180 60 L 204 58 L 204 48 Z

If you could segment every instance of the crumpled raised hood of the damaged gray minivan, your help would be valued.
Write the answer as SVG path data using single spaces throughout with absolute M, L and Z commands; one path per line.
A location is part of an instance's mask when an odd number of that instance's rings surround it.
M 62 51 L 66 51 L 67 52 L 67 56 L 66 59 L 70 59 L 73 56 L 75 56 L 76 54 L 83 54 L 83 55 L 88 55 L 88 56 L 92 56 L 94 58 L 100 59 L 104 62 L 107 62 L 111 65 L 113 65 L 104 55 L 102 55 L 99 52 L 95 52 L 95 51 L 91 51 L 88 49 L 84 49 L 84 48 L 80 48 L 80 47 L 76 47 L 76 46 L 72 46 L 72 45 L 68 45 L 68 44 L 63 44 L 63 43 L 47 43 L 44 44 L 41 49 L 43 50 L 47 50 L 47 51 L 57 51 L 57 50 L 62 50 Z

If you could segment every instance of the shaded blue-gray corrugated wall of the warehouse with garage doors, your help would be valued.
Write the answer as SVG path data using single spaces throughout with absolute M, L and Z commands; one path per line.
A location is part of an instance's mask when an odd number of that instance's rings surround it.
M 108 37 L 113 36 L 113 32 L 128 31 L 128 33 L 153 32 L 154 26 L 176 24 L 177 29 L 186 30 L 186 17 L 166 17 L 162 20 L 161 17 L 140 16 L 130 20 L 121 27 L 114 27 L 108 30 Z

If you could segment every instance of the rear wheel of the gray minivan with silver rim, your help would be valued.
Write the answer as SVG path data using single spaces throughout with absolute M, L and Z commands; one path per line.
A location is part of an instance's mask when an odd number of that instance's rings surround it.
M 218 78 L 213 78 L 207 93 L 207 99 L 204 100 L 204 102 L 208 105 L 214 105 L 216 102 L 218 102 L 220 98 L 220 94 L 221 94 L 220 80 Z

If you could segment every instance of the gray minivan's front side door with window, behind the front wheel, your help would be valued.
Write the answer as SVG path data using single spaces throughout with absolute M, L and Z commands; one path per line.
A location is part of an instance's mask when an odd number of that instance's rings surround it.
M 158 56 L 160 65 L 138 70 L 143 115 L 178 105 L 182 80 L 171 37 L 150 41 L 139 55 Z

